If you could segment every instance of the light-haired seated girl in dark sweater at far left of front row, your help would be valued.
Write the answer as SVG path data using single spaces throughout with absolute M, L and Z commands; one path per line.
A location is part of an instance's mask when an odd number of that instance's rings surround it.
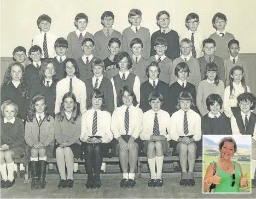
M 25 152 L 24 124 L 16 117 L 18 106 L 14 102 L 4 101 L 1 111 L 1 188 L 10 188 L 15 184 L 13 158 L 20 158 Z

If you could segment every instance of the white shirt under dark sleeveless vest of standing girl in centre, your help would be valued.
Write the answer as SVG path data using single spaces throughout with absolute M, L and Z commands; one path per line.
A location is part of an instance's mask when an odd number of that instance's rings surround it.
M 130 74 L 130 71 L 127 70 L 124 74 L 125 74 L 125 80 L 126 80 L 128 75 Z M 122 79 L 123 73 L 121 73 L 120 71 L 119 71 L 119 76 Z M 111 78 L 110 81 L 111 81 L 112 86 L 113 86 L 114 105 L 115 105 L 115 108 L 116 108 L 117 107 L 117 91 L 115 91 L 115 83 L 114 83 L 113 77 Z M 135 80 L 134 80 L 134 84 L 133 84 L 132 90 L 135 93 L 137 101 L 139 103 L 140 100 L 141 100 L 141 82 L 139 81 L 139 77 L 137 75 L 135 76 Z M 137 106 L 139 107 L 139 104 Z

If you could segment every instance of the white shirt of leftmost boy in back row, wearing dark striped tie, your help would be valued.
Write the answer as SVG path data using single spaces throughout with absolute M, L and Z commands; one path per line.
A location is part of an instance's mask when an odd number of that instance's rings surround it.
M 46 41 L 47 41 L 47 50 L 48 50 L 48 55 L 49 58 L 54 58 L 56 56 L 55 48 L 54 48 L 54 43 L 57 40 L 57 37 L 55 34 L 51 32 L 46 32 Z M 44 57 L 44 32 L 42 31 L 39 35 L 34 37 L 32 41 L 32 45 L 38 45 L 42 49 L 42 53 Z

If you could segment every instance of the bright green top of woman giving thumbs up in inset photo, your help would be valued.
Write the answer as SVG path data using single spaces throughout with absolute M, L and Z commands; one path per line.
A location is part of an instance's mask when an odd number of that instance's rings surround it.
M 218 176 L 222 177 L 222 180 L 220 181 L 220 184 L 216 184 L 215 192 L 239 192 L 239 181 L 241 177 L 241 170 L 237 165 L 236 161 L 233 161 L 235 166 L 235 185 L 232 187 L 232 174 L 229 174 L 225 171 L 223 171 L 221 168 L 216 166 L 216 171 L 218 171 Z

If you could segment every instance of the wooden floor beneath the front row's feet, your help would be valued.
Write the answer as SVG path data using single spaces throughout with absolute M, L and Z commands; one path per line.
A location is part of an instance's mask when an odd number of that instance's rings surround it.
M 256 198 L 254 194 L 202 194 L 202 178 L 195 178 L 194 187 L 179 186 L 180 178 L 163 178 L 164 186 L 149 188 L 148 178 L 136 178 L 134 188 L 120 188 L 120 178 L 102 179 L 97 190 L 84 188 L 85 179 L 75 179 L 72 189 L 58 189 L 59 180 L 48 179 L 45 190 L 31 190 L 20 178 L 10 189 L 1 189 L 1 198 Z

